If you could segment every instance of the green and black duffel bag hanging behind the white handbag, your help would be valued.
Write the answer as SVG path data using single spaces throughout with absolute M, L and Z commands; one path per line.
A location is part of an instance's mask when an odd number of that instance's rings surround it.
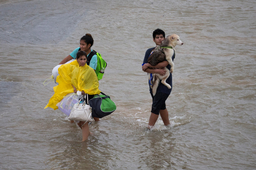
M 107 96 L 102 92 L 101 94 L 102 95 L 95 95 L 89 100 L 92 117 L 102 118 L 116 110 L 116 104 L 110 99 L 110 96 Z

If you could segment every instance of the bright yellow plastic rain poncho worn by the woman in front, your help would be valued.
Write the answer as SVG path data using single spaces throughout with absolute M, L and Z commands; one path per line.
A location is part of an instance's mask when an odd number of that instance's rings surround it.
M 84 91 L 88 95 L 96 95 L 101 91 L 99 90 L 99 81 L 95 71 L 85 64 L 79 67 L 77 60 L 71 63 L 61 65 L 58 69 L 59 75 L 56 82 L 58 86 L 53 87 L 54 95 L 50 98 L 49 103 L 45 108 L 51 107 L 54 110 L 58 109 L 56 104 L 60 102 L 64 96 L 74 92 L 73 86 L 76 90 Z M 73 84 L 73 86 L 72 86 Z

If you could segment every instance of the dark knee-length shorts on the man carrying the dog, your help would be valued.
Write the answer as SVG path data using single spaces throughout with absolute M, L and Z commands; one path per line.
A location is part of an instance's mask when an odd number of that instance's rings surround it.
M 153 96 L 152 93 L 150 94 L 153 99 L 151 113 L 159 115 L 160 110 L 166 109 L 165 101 L 169 95 L 166 93 L 156 93 L 155 96 Z

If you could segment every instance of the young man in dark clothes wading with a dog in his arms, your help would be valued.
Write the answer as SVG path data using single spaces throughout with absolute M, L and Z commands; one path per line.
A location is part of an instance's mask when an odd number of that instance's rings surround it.
M 162 41 L 165 39 L 165 32 L 161 29 L 156 29 L 153 32 L 153 41 L 155 42 L 156 45 L 160 45 L 162 43 Z M 143 66 L 142 66 L 142 70 L 147 72 L 147 73 L 158 73 L 160 75 L 165 75 L 166 71 L 163 70 L 163 68 L 167 67 L 169 70 L 171 69 L 171 66 L 169 65 L 168 61 L 165 60 L 163 62 L 158 63 L 155 66 L 152 66 L 148 63 L 148 57 L 151 54 L 153 48 L 149 48 L 146 51 L 144 60 L 143 60 Z M 150 69 L 151 68 L 155 68 L 155 69 Z M 166 83 L 170 84 L 172 87 L 172 74 L 170 73 L 170 76 L 168 77 L 168 79 L 166 80 Z M 168 115 L 168 111 L 166 109 L 166 105 L 165 105 L 165 101 L 168 98 L 168 96 L 170 95 L 172 88 L 168 89 L 168 87 L 166 87 L 165 85 L 163 85 L 161 82 L 159 83 L 159 86 L 157 88 L 157 92 L 155 94 L 155 96 L 152 95 L 152 89 L 150 87 L 150 82 L 148 82 L 149 84 L 149 92 L 152 96 L 152 108 L 151 108 L 151 115 L 149 117 L 149 122 L 148 122 L 148 128 L 151 129 L 154 125 L 155 122 L 157 122 L 158 116 L 160 114 L 163 123 L 167 126 L 170 124 L 169 121 L 169 115 Z

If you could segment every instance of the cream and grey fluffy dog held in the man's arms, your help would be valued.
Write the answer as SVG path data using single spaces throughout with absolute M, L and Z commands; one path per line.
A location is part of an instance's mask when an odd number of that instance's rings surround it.
M 151 55 L 148 57 L 148 63 L 152 66 L 157 65 L 158 63 L 164 61 L 165 59 L 169 62 L 169 65 L 171 65 L 170 72 L 172 73 L 174 70 L 174 63 L 172 61 L 172 56 L 175 57 L 175 49 L 174 47 L 176 45 L 183 45 L 183 42 L 180 41 L 180 37 L 176 34 L 172 34 L 166 37 L 164 41 L 162 41 L 161 45 L 155 47 Z M 159 85 L 160 80 L 162 84 L 164 84 L 168 89 L 171 89 L 171 86 L 166 83 L 167 78 L 170 75 L 170 72 L 168 68 L 165 67 L 166 74 L 160 75 L 157 73 L 152 74 L 152 81 L 151 88 L 152 93 L 155 96 L 155 93 L 157 92 L 157 87 Z M 151 79 L 149 74 L 149 80 Z

